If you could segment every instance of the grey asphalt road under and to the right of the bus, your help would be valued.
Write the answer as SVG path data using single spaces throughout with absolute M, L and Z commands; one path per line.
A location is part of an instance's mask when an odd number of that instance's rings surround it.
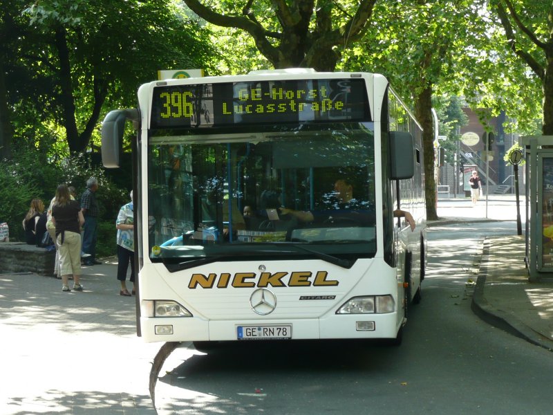
M 203 354 L 183 344 L 162 368 L 158 414 L 550 414 L 552 353 L 470 308 L 482 237 L 513 232 L 514 221 L 429 230 L 422 302 L 400 347 L 276 342 Z

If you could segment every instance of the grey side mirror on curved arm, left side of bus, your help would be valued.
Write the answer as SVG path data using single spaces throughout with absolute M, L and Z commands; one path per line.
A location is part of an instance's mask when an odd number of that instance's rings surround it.
M 109 111 L 102 122 L 102 164 L 104 167 L 119 167 L 123 152 L 125 121 L 138 122 L 138 109 L 115 109 Z

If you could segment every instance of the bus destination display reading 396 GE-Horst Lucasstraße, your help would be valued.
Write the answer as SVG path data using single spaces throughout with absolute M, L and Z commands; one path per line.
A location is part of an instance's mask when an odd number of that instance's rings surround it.
M 151 128 L 370 121 L 362 79 L 156 86 Z

